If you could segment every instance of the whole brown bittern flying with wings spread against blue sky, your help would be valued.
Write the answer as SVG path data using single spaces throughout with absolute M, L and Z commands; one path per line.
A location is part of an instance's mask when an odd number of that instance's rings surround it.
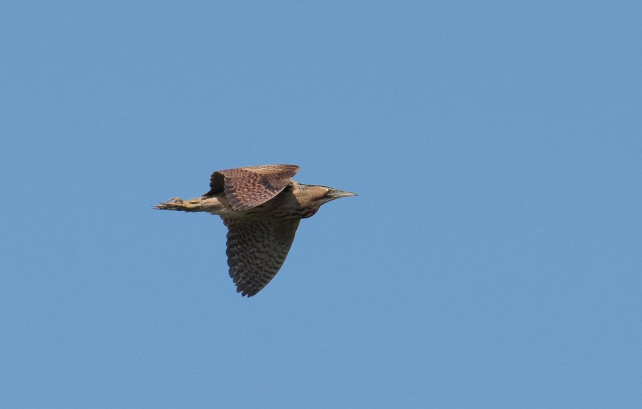
M 218 214 L 227 226 L 227 265 L 236 292 L 256 295 L 279 272 L 301 219 L 331 200 L 356 196 L 292 180 L 296 165 L 248 166 L 216 171 L 203 196 L 172 198 L 156 209 Z

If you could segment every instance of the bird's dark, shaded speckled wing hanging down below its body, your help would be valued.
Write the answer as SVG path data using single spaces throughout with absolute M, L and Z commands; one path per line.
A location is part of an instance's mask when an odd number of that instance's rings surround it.
M 279 272 L 288 256 L 300 219 L 224 218 L 227 264 L 236 292 L 252 297 Z

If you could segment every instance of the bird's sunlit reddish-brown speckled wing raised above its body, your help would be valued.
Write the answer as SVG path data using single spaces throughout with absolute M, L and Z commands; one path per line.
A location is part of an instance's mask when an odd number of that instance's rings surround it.
M 252 209 L 281 193 L 299 169 L 296 165 L 263 165 L 216 171 L 204 196 L 225 192 L 232 209 Z

